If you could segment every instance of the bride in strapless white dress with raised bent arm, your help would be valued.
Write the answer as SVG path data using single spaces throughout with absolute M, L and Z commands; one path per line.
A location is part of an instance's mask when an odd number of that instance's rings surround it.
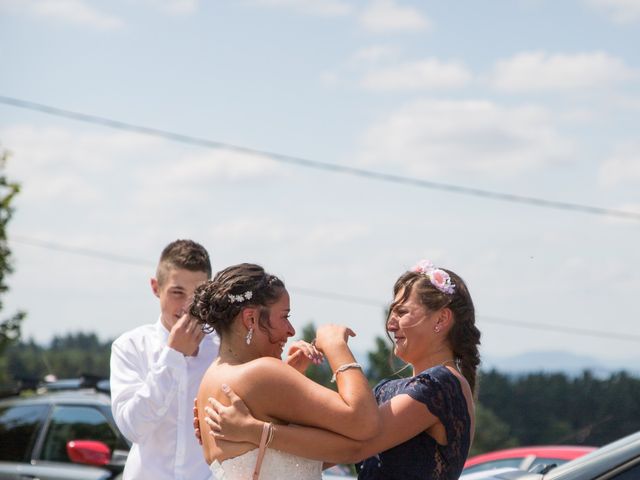
M 288 363 L 281 361 L 285 343 L 295 334 L 289 311 L 284 283 L 255 264 L 228 267 L 195 291 L 191 315 L 221 339 L 219 356 L 200 384 L 197 404 L 207 405 L 207 398 L 214 397 L 228 405 L 224 392 L 232 389 L 265 422 L 258 449 L 203 435 L 213 478 L 245 480 L 253 475 L 255 479 L 259 472 L 261 480 L 319 480 L 322 462 L 266 448 L 273 438 L 273 424 L 314 426 L 359 441 L 378 433 L 376 401 L 347 346 L 348 337 L 355 334 L 337 325 L 317 331 L 315 347 L 336 372 L 335 392 L 301 373 L 319 358 L 314 346 L 298 345 L 290 351 Z M 205 412 L 199 411 L 201 423 L 204 417 Z

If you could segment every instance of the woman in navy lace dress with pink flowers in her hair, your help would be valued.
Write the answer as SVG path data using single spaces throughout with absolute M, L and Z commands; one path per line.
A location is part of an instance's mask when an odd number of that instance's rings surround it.
M 331 463 L 361 461 L 361 480 L 457 479 L 473 438 L 480 362 L 480 332 L 464 281 L 420 262 L 396 281 L 386 329 L 413 376 L 376 386 L 380 434 L 354 441 L 313 426 L 277 425 L 271 447 Z M 212 402 L 211 434 L 258 444 L 263 422 L 233 392 L 229 397 L 229 407 Z

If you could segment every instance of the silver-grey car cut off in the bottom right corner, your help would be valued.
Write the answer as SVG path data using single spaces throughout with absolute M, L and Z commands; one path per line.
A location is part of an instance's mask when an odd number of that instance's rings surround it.
M 488 476 L 482 477 L 484 480 L 638 480 L 640 432 L 560 466 L 540 464 L 529 472 L 512 470 L 486 473 Z

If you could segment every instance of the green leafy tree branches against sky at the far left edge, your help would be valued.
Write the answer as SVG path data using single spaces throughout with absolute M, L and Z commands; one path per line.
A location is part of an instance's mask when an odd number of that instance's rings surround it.
M 11 202 L 20 191 L 20 186 L 11 182 L 5 175 L 5 166 L 9 159 L 9 152 L 0 148 L 0 311 L 2 311 L 3 303 L 1 295 L 5 293 L 9 287 L 6 283 L 6 276 L 13 272 L 11 264 L 11 250 L 7 241 L 7 224 L 13 215 L 13 207 Z M 20 325 L 25 317 L 25 313 L 18 311 L 9 318 L 0 321 L 0 358 L 6 348 L 17 339 L 20 338 Z M 4 365 L 0 365 L 4 367 Z M 2 378 L 5 369 L 0 370 L 0 382 L 6 382 L 6 378 Z

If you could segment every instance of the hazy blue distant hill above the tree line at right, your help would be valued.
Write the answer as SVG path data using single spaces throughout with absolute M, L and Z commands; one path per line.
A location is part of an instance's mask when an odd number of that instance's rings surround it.
M 603 377 L 624 370 L 640 376 L 640 357 L 616 361 L 562 351 L 540 351 L 508 357 L 484 356 L 480 368 L 513 374 L 544 371 L 580 375 L 584 370 L 590 370 L 594 375 Z

